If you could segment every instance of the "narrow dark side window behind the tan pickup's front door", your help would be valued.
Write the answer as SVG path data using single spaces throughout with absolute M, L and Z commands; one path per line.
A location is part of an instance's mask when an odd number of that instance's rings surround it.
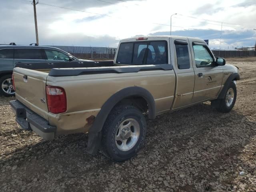
M 175 47 L 176 47 L 178 68 L 189 69 L 190 59 L 189 59 L 189 53 L 188 53 L 188 45 L 176 44 Z

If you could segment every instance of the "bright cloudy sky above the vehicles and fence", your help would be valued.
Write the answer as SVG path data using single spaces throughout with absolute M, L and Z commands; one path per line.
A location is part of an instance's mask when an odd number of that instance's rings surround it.
M 0 0 L 0 44 L 35 42 L 30 0 Z M 62 8 L 60 8 L 62 7 Z M 39 0 L 40 45 L 110 46 L 140 35 L 209 39 L 211 48 L 254 46 L 256 0 Z M 218 22 L 216 22 L 218 21 Z

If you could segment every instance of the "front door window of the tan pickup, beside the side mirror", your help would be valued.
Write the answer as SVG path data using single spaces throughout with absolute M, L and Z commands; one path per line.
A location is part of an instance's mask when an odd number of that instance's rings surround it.
M 197 68 L 212 67 L 214 65 L 213 58 L 205 46 L 193 45 L 193 49 Z

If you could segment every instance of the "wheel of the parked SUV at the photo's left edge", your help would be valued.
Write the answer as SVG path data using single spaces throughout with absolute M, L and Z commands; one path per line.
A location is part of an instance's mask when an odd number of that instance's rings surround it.
M 12 84 L 12 75 L 4 75 L 0 78 L 0 95 L 14 96 L 15 90 Z

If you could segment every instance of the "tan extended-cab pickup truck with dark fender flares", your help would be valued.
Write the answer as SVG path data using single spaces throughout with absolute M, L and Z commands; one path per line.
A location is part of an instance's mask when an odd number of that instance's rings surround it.
M 114 62 L 17 64 L 16 121 L 49 140 L 87 133 L 87 151 L 112 160 L 134 156 L 146 119 L 211 101 L 220 112 L 236 102 L 238 68 L 215 58 L 204 40 L 148 36 L 120 41 Z

